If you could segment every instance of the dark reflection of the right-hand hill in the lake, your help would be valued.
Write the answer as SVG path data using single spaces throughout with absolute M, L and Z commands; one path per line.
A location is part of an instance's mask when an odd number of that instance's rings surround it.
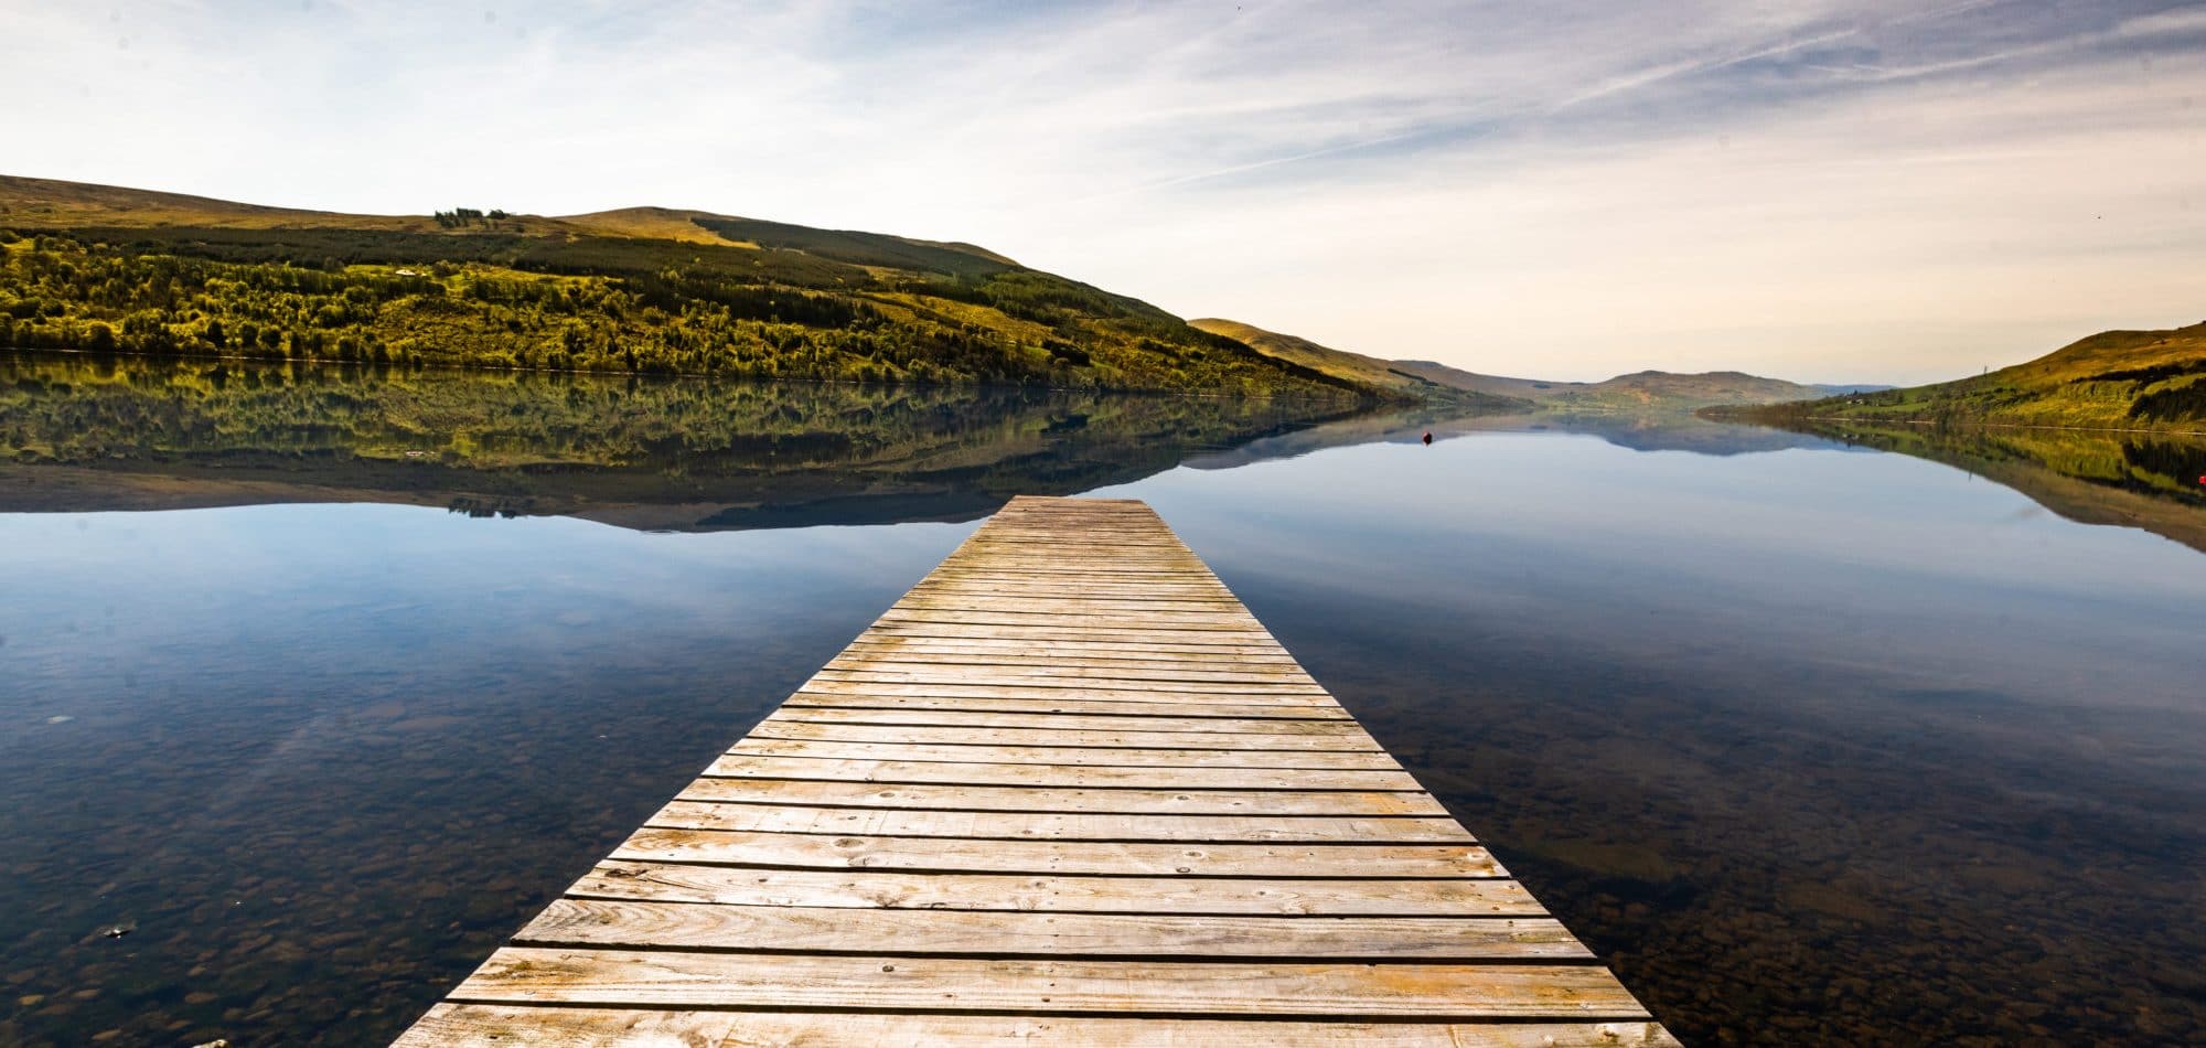
M 2206 441 L 2160 432 L 1864 426 L 1800 432 L 1957 466 L 2069 521 L 2142 527 L 2206 552 Z

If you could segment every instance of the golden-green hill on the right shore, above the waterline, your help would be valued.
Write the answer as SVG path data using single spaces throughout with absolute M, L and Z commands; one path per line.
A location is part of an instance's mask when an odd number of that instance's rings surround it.
M 2166 331 L 2100 331 L 1985 375 L 1732 415 L 1776 424 L 2001 424 L 2197 432 L 2206 430 L 2206 322 Z

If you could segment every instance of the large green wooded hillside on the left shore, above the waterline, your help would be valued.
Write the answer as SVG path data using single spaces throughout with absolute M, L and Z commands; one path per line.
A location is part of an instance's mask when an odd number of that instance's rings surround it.
M 962 243 L 662 207 L 331 214 L 15 177 L 0 177 L 0 346 L 1383 395 Z

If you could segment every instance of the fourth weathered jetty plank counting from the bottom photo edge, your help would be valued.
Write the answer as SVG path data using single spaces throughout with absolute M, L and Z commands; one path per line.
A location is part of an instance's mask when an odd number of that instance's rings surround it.
M 743 907 L 1030 909 L 1050 913 L 1542 916 L 1524 885 L 1493 878 L 1193 878 L 1059 874 L 904 874 L 684 863 L 598 863 L 582 898 Z

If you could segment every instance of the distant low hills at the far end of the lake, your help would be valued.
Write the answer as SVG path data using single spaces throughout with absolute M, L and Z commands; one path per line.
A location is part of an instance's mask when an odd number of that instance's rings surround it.
M 1368 386 L 1390 388 L 1423 399 L 1478 404 L 1489 408 L 1546 408 L 1575 413 L 1679 413 L 1716 404 L 1776 404 L 1831 393 L 1884 386 L 1805 386 L 1765 379 L 1738 371 L 1679 375 L 1639 371 L 1606 382 L 1544 382 L 1502 375 L 1478 375 L 1429 360 L 1381 360 L 1346 349 L 1321 346 L 1306 338 L 1264 331 L 1253 324 L 1220 318 L 1189 320 L 1191 327 L 1249 344 L 1293 364 Z

